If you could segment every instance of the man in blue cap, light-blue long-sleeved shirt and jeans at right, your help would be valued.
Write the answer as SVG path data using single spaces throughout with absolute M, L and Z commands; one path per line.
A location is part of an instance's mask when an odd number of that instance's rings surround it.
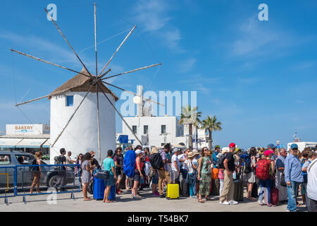
M 290 154 L 285 159 L 285 182 L 287 184 L 287 212 L 297 212 L 296 197 L 299 183 L 304 182 L 302 174 L 302 166 L 300 160 L 297 158 L 298 145 L 293 143 L 291 145 Z

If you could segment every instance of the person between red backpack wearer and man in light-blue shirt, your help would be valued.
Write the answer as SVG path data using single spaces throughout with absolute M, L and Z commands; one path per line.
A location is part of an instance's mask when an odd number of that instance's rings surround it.
M 279 200 L 280 203 L 287 203 L 287 186 L 282 186 L 282 178 L 284 177 L 284 182 L 285 182 L 285 174 L 284 174 L 284 169 L 285 169 L 285 159 L 287 156 L 287 151 L 285 148 L 280 148 L 280 155 L 276 159 L 276 169 L 277 169 L 277 174 L 278 174 L 278 181 L 277 181 L 277 186 L 278 186 L 278 194 L 279 194 Z

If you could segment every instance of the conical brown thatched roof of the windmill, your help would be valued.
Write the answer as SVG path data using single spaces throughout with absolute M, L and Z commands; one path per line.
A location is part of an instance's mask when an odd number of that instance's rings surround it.
M 82 69 L 80 73 L 85 73 L 87 76 L 89 76 L 89 73 L 85 70 Z M 55 95 L 63 95 L 63 93 L 67 92 L 88 92 L 90 86 L 92 85 L 92 78 L 88 78 L 87 76 L 83 76 L 82 74 L 78 73 L 76 76 L 68 80 L 66 83 L 63 83 L 60 87 L 56 88 L 53 92 L 49 94 L 49 99 L 52 96 Z M 111 90 L 109 90 L 106 85 L 101 83 L 101 81 L 98 82 L 99 86 L 101 87 L 102 91 L 104 93 L 111 93 L 113 97 L 115 97 L 115 100 L 119 100 L 119 98 L 114 94 Z M 90 90 L 90 93 L 96 93 L 97 92 L 97 85 L 94 85 L 92 89 Z M 101 93 L 101 90 L 99 90 Z

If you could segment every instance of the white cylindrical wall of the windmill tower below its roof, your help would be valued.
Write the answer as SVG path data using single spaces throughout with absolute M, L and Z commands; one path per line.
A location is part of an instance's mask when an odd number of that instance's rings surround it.
M 85 97 L 85 94 L 84 92 L 66 93 L 66 95 L 74 95 L 73 107 L 66 107 L 65 95 L 51 97 L 51 139 L 49 141 L 51 145 L 82 101 L 82 98 Z M 108 93 L 106 95 L 114 104 L 114 97 Z M 96 93 L 87 95 L 54 148 L 51 148 L 51 164 L 54 164 L 54 157 L 59 155 L 60 148 L 66 148 L 66 151 L 70 150 L 73 153 L 72 159 L 75 159 L 80 153 L 85 154 L 94 150 L 97 153 L 96 159 L 99 160 L 96 96 Z M 99 93 L 99 114 L 101 160 L 104 160 L 107 151 L 116 148 L 116 112 L 102 93 Z

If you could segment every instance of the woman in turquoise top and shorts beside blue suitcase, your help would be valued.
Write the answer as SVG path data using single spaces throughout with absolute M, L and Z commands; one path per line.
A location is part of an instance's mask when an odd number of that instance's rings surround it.
M 109 200 L 109 194 L 111 190 L 111 186 L 113 186 L 116 183 L 116 180 L 118 179 L 116 174 L 116 165 L 115 161 L 113 160 L 113 150 L 108 150 L 107 157 L 104 159 L 104 170 L 109 172 L 109 177 L 107 180 L 104 181 L 104 186 L 106 186 L 106 189 L 104 190 L 104 203 L 112 203 L 112 200 Z

